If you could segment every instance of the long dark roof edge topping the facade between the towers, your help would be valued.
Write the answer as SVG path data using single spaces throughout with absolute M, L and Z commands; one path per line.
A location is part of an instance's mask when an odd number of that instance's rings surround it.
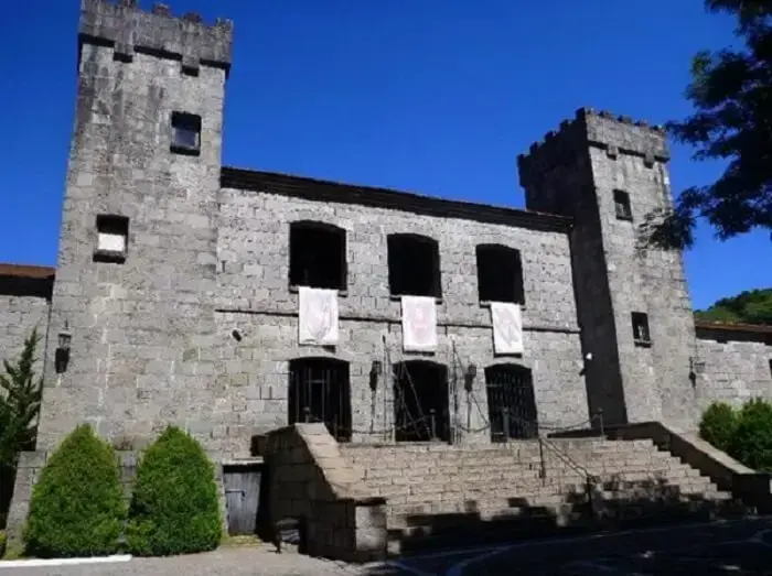
M 411 211 L 444 218 L 462 218 L 490 224 L 517 226 L 532 230 L 566 232 L 571 219 L 553 214 L 518 210 L 471 202 L 449 200 L 432 196 L 372 186 L 358 186 L 324 180 L 223 167 L 219 177 L 224 188 L 268 192 L 314 202 L 357 204 L 372 208 Z

